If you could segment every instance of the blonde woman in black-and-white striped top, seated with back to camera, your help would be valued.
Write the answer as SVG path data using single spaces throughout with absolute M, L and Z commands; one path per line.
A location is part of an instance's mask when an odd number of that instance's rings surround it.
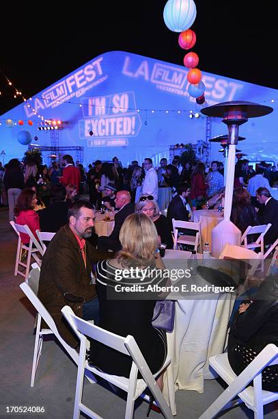
M 167 356 L 165 331 L 152 327 L 156 301 L 142 299 L 140 292 L 116 292 L 115 286 L 129 284 L 144 287 L 154 283 L 151 275 L 147 275 L 148 278 L 143 281 L 140 273 L 134 277 L 131 268 L 141 270 L 150 266 L 159 270 L 165 269 L 159 252 L 156 252 L 157 240 L 156 228 L 150 218 L 144 214 L 130 214 L 120 231 L 122 250 L 117 253 L 115 259 L 98 262 L 96 267 L 96 290 L 100 304 L 99 326 L 117 335 L 133 335 L 153 373 L 163 366 Z M 118 275 L 121 276 L 122 270 L 130 272 L 130 275 L 119 280 Z M 155 279 L 158 285 L 165 285 L 166 279 Z M 110 292 L 110 295 L 113 294 L 117 299 L 109 298 Z M 98 342 L 92 342 L 90 363 L 109 374 L 129 377 L 132 361 L 126 355 Z M 161 381 L 158 381 L 158 385 L 161 385 Z

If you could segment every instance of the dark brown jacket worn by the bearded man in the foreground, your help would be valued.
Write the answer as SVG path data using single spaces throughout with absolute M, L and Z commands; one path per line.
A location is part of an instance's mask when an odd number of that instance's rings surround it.
M 96 297 L 96 285 L 90 285 L 92 266 L 113 255 L 100 253 L 86 242 L 85 267 L 77 239 L 68 225 L 59 229 L 44 253 L 38 298 L 53 316 L 62 338 L 73 348 L 79 340 L 64 320 L 61 308 L 69 305 L 82 318 L 83 303 Z

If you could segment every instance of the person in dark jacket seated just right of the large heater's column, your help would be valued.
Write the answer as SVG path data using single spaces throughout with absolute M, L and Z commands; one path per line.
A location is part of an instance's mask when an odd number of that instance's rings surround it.
M 249 225 L 260 225 L 260 220 L 253 205 L 251 196 L 245 188 L 234 188 L 231 221 L 244 233 Z

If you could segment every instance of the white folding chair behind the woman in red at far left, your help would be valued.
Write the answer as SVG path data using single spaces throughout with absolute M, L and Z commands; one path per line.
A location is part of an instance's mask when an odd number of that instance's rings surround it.
M 16 264 L 14 266 L 14 276 L 16 275 L 22 275 L 25 278 L 25 281 L 29 275 L 30 270 L 30 264 L 31 264 L 31 257 L 36 261 L 38 265 L 42 264 L 42 260 L 38 257 L 37 253 L 39 253 L 41 256 L 44 254 L 42 250 L 42 246 L 40 246 L 38 240 L 33 235 L 29 227 L 25 225 L 19 225 L 14 223 L 14 221 L 10 221 L 10 225 L 12 225 L 12 228 L 14 231 L 16 231 L 16 234 L 18 235 L 18 242 L 17 242 L 17 251 L 16 251 Z M 23 244 L 20 233 L 25 233 L 29 236 L 30 241 L 29 244 Z M 23 262 L 23 250 L 27 251 L 27 261 L 26 264 Z M 18 266 L 23 266 L 25 268 L 25 272 L 21 272 L 18 269 Z

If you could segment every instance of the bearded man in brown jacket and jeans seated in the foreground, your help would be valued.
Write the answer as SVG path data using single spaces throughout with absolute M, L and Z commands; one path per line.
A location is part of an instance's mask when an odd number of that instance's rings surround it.
M 61 336 L 73 348 L 79 344 L 61 308 L 69 305 L 85 320 L 98 318 L 96 285 L 90 285 L 92 266 L 113 253 L 98 252 L 85 239 L 92 235 L 94 210 L 87 201 L 75 202 L 68 212 L 68 224 L 48 244 L 42 260 L 38 297 L 53 316 Z

